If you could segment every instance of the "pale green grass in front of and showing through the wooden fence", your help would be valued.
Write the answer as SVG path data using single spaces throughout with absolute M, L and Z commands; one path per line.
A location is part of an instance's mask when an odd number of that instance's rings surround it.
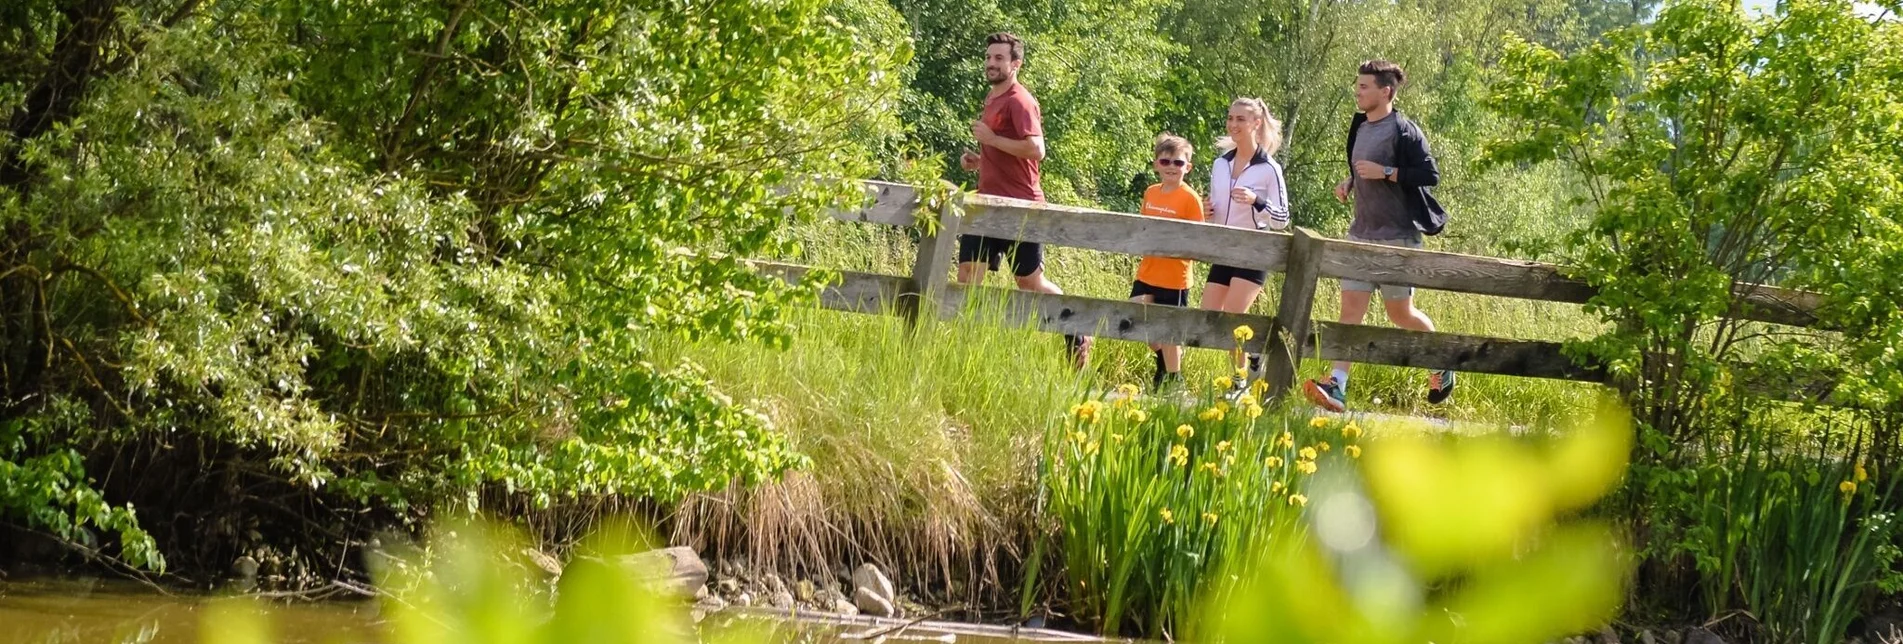
M 790 234 L 803 252 L 786 259 L 797 263 L 885 274 L 906 274 L 912 263 L 912 232 L 902 229 L 818 221 Z M 1136 257 L 1047 252 L 1050 278 L 1089 297 L 1123 299 L 1134 265 Z M 1010 282 L 991 274 L 988 286 Z M 1195 290 L 1191 301 L 1201 284 Z M 1277 290 L 1271 280 L 1254 312 L 1271 314 Z M 1336 303 L 1334 282 L 1324 282 L 1315 316 L 1332 320 Z M 1433 292 L 1422 292 L 1420 305 L 1460 333 L 1566 339 L 1593 324 L 1568 305 Z M 1148 383 L 1151 358 L 1140 343 L 1098 341 L 1092 370 L 1079 375 L 1064 366 L 1058 335 L 997 324 L 986 311 L 967 314 L 913 335 L 891 316 L 799 311 L 788 351 L 657 339 L 657 358 L 698 362 L 813 457 L 809 471 L 782 482 L 683 503 L 677 537 L 792 574 L 864 558 L 952 589 L 999 587 L 1026 556 L 1014 549 L 1030 530 L 1043 436 L 1087 391 Z M 1382 312 L 1368 324 L 1385 324 Z M 1311 360 L 1304 375 L 1324 370 Z M 1229 373 L 1229 358 L 1189 351 L 1184 372 L 1189 383 L 1207 383 Z M 1595 389 L 1471 375 L 1452 404 L 1427 406 L 1423 372 L 1361 366 L 1349 394 L 1359 410 L 1545 425 L 1589 408 Z

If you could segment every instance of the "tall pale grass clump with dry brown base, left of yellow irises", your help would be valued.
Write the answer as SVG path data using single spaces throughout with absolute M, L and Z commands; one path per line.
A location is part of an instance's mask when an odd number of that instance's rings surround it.
M 1045 431 L 1089 387 L 1062 339 L 995 318 L 906 330 L 898 318 L 794 312 L 794 349 L 657 339 L 763 410 L 809 473 L 693 497 L 676 535 L 792 574 L 873 560 L 902 581 L 1001 587 L 1030 516 Z M 990 318 L 990 320 L 988 320 Z

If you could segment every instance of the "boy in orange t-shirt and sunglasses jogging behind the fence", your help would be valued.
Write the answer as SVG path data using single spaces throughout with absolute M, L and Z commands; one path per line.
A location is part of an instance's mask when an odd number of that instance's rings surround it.
M 1203 221 L 1203 198 L 1184 185 L 1189 173 L 1189 141 L 1165 133 L 1155 145 L 1157 177 L 1163 183 L 1144 191 L 1146 217 L 1168 217 L 1184 221 Z M 1136 280 L 1130 282 L 1130 301 L 1146 305 L 1186 307 L 1189 305 L 1189 259 L 1144 257 L 1136 265 Z M 1184 349 L 1180 345 L 1149 345 L 1157 358 L 1155 389 L 1168 381 L 1182 381 Z

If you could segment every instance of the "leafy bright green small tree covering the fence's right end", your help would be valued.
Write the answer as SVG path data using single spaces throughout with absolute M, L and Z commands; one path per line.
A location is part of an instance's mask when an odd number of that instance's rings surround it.
M 1579 343 L 1610 366 L 1667 461 L 1739 421 L 1737 364 L 1772 387 L 1836 375 L 1840 402 L 1903 400 L 1903 29 L 1850 2 L 1777 15 L 1669 4 L 1656 25 L 1562 57 L 1509 46 L 1496 109 L 1519 137 L 1496 162 L 1560 160 L 1595 210 L 1574 236 L 1610 328 Z M 1827 295 L 1821 328 L 1739 322 L 1753 284 Z

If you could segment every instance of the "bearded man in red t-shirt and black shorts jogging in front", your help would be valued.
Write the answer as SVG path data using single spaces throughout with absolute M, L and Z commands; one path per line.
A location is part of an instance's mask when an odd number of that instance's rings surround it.
M 1045 200 L 1037 185 L 1037 162 L 1045 158 L 1045 118 L 1037 99 L 1018 84 L 1024 67 L 1024 42 L 1009 32 L 984 40 L 984 80 L 991 93 L 984 99 L 984 114 L 971 124 L 978 151 L 965 151 L 959 164 L 978 173 L 978 194 Z M 997 271 L 1010 257 L 1010 272 L 1018 288 L 1062 295 L 1064 290 L 1045 278 L 1045 250 L 1041 244 L 963 234 L 957 240 L 957 282 L 978 284 L 988 271 Z M 1090 337 L 1066 335 L 1077 368 L 1090 362 Z

